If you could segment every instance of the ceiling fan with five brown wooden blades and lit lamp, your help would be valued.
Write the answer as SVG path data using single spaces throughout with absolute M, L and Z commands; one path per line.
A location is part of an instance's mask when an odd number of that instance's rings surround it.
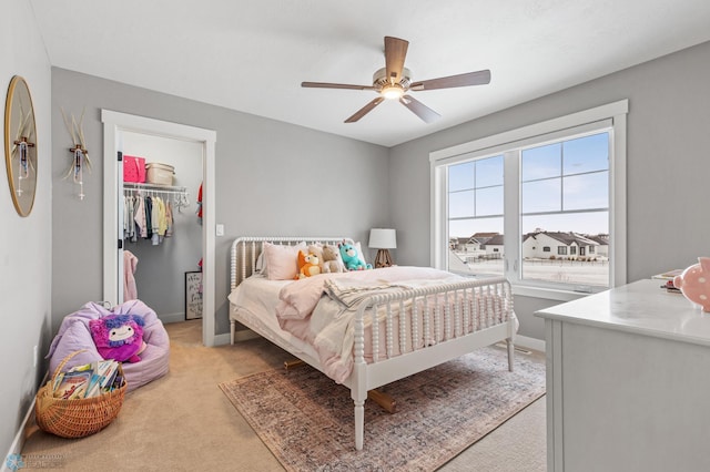
M 399 103 L 409 109 L 415 115 L 426 123 L 432 123 L 442 117 L 434 110 L 414 99 L 407 92 L 418 92 L 424 90 L 453 89 L 456 86 L 484 85 L 490 82 L 490 71 L 483 70 L 467 72 L 446 78 L 429 79 L 419 82 L 412 82 L 412 72 L 404 66 L 409 42 L 399 38 L 385 37 L 385 66 L 373 74 L 372 85 L 351 85 L 346 83 L 328 82 L 301 82 L 301 86 L 313 89 L 349 89 L 349 90 L 374 90 L 379 94 L 372 102 L 355 112 L 354 115 L 345 120 L 345 123 L 355 123 L 373 109 L 379 105 L 385 99 L 398 100 Z

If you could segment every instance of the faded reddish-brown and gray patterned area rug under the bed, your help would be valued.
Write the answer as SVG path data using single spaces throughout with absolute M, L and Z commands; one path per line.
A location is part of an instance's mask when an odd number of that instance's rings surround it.
M 489 347 L 385 386 L 397 412 L 365 402 L 362 451 L 349 390 L 310 366 L 220 388 L 287 471 L 432 471 L 545 394 L 545 365 Z

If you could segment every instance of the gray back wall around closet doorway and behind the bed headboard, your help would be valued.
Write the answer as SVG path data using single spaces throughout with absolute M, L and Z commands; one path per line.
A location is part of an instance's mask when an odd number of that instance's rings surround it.
M 101 109 L 216 131 L 216 334 L 229 332 L 230 242 L 241 235 L 352 235 L 386 225 L 385 147 L 145 89 L 52 69 L 54 192 L 52 321 L 102 297 Z M 80 115 L 93 174 L 78 201 L 61 177 L 70 138 L 60 107 Z M 139 263 L 140 264 L 140 263 Z

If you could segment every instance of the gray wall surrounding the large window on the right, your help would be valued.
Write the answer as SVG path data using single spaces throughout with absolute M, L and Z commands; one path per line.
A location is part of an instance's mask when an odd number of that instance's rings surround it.
M 709 78 L 710 42 L 392 148 L 398 259 L 429 263 L 429 152 L 629 99 L 628 281 L 694 264 L 710 254 Z M 557 301 L 515 301 L 520 334 L 542 339 L 532 312 Z

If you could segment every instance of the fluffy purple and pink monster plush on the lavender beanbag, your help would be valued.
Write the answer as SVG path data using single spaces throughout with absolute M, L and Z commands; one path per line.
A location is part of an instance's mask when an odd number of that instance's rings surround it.
M 143 341 L 145 321 L 136 315 L 109 315 L 89 321 L 89 330 L 97 350 L 104 359 L 119 362 L 139 362 L 145 350 Z

